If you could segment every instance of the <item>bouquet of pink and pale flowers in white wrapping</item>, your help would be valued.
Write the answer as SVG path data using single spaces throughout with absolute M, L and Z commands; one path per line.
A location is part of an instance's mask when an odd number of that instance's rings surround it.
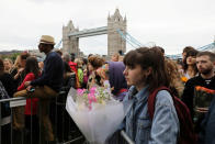
M 131 104 L 112 98 L 110 87 L 104 85 L 90 90 L 71 88 L 66 109 L 90 143 L 103 144 L 117 130 Z

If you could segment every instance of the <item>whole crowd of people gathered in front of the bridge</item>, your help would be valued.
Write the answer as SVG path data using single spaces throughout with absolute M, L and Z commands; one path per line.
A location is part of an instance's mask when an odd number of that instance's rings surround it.
M 215 144 L 215 53 L 186 46 L 182 59 L 176 60 L 166 57 L 162 47 L 154 46 L 139 47 L 125 55 L 120 51 L 108 60 L 92 54 L 87 58 L 76 57 L 55 51 L 54 45 L 54 37 L 41 37 L 38 49 L 46 55 L 44 62 L 27 52 L 20 54 L 14 63 L 10 58 L 0 59 L 1 91 L 5 91 L 8 98 L 31 98 L 26 106 L 12 110 L 15 131 L 30 129 L 33 122 L 33 131 L 38 133 L 39 121 L 45 141 L 55 143 L 56 123 L 49 115 L 49 109 L 54 109 L 52 99 L 61 97 L 61 91 L 67 95 L 71 87 L 103 87 L 109 80 L 116 100 L 133 101 L 118 131 L 124 130 L 134 143 Z M 7 108 L 2 110 L 5 122 L 1 121 L 1 137 L 7 143 L 10 142 L 7 120 L 11 113 L 7 114 Z M 189 125 L 180 113 L 186 114 Z

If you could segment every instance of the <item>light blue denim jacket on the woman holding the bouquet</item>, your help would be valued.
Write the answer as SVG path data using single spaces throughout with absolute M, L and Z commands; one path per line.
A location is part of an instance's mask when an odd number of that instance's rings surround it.
M 176 144 L 180 123 L 170 93 L 166 90 L 158 92 L 155 103 L 152 122 L 148 114 L 147 87 L 137 91 L 133 86 L 125 97 L 133 100 L 133 107 L 125 118 L 126 134 L 135 144 Z

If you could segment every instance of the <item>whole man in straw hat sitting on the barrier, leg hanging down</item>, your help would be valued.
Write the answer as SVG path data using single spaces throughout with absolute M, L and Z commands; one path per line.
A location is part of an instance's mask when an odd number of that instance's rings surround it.
M 53 36 L 42 35 L 38 49 L 46 54 L 42 76 L 33 81 L 26 81 L 26 90 L 14 93 L 14 97 L 41 98 L 41 119 L 46 141 L 54 141 L 52 123 L 48 118 L 49 98 L 57 97 L 63 85 L 64 66 L 61 57 L 53 52 L 55 41 Z

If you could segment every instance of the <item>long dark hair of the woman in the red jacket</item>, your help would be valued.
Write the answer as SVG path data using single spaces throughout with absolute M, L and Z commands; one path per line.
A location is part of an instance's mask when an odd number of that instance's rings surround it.
M 25 65 L 25 68 L 24 68 L 25 76 L 29 73 L 33 73 L 35 78 L 37 78 L 38 75 L 39 75 L 39 67 L 38 67 L 37 59 L 33 56 L 30 56 L 30 57 L 26 58 L 26 65 Z

